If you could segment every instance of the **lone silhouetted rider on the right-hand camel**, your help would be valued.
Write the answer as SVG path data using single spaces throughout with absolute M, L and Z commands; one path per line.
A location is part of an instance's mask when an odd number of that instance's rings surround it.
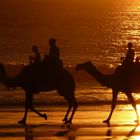
M 133 44 L 129 42 L 127 44 L 128 46 L 128 51 L 126 53 L 125 57 L 122 57 L 122 63 L 123 64 L 132 64 L 134 61 L 134 56 L 135 56 L 135 51 L 133 49 Z

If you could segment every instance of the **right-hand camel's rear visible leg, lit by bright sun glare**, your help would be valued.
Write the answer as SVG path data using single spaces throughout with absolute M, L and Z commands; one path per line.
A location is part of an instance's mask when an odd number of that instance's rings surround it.
M 134 108 L 135 112 L 136 112 L 136 116 L 137 116 L 137 123 L 139 123 L 139 115 L 138 115 L 138 111 L 137 111 L 137 108 L 136 108 L 136 103 L 133 99 L 133 96 L 131 93 L 125 93 L 125 95 L 127 96 L 129 102 L 132 104 L 132 107 Z

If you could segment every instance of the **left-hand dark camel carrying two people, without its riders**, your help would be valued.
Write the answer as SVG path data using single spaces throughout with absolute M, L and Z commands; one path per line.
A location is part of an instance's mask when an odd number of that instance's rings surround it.
M 41 66 L 40 66 L 41 67 Z M 33 106 L 33 95 L 39 92 L 48 92 L 51 90 L 57 90 L 60 96 L 63 96 L 68 103 L 68 110 L 62 120 L 65 124 L 71 124 L 78 103 L 75 99 L 75 82 L 73 76 L 65 68 L 62 68 L 55 77 L 47 74 L 46 69 L 44 72 L 35 66 L 25 66 L 19 74 L 14 77 L 10 77 L 4 67 L 4 64 L 0 63 L 0 82 L 8 88 L 21 87 L 25 91 L 25 112 L 23 118 L 18 121 L 20 124 L 26 124 L 27 113 L 30 109 L 40 117 L 47 120 L 47 115 L 40 113 Z M 46 75 L 42 75 L 46 73 Z M 52 74 L 54 75 L 54 73 Z M 44 79 L 43 79 L 44 78 Z M 47 80 L 46 80 L 47 79 Z M 69 113 L 72 113 L 68 117 Z

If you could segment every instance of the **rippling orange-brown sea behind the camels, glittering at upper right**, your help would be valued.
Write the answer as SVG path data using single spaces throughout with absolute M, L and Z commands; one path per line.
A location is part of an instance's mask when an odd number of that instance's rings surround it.
M 64 66 L 73 70 L 89 60 L 103 72 L 115 69 L 128 42 L 134 44 L 135 57 L 140 56 L 139 0 L 0 0 L 0 9 L 0 62 L 6 65 L 28 64 L 32 45 L 39 47 L 43 58 L 50 38 L 56 39 Z M 111 89 L 86 73 L 72 74 L 80 103 L 110 103 Z M 38 104 L 63 101 L 56 91 L 35 96 Z M 138 94 L 134 97 L 139 100 Z M 126 99 L 119 95 L 119 100 Z M 1 104 L 23 102 L 24 91 L 0 86 Z

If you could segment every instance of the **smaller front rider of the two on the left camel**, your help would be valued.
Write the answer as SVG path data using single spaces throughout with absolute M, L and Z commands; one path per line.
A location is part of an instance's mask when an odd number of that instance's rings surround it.
M 40 64 L 41 57 L 38 47 L 36 45 L 32 46 L 32 51 L 34 53 L 34 56 L 29 56 L 30 64 Z

